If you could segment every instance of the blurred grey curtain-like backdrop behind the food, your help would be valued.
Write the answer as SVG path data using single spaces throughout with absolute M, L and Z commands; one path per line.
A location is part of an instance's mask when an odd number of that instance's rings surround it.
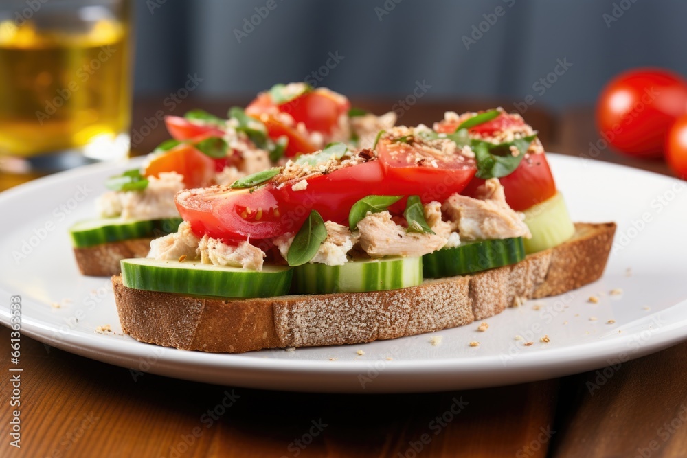
M 532 95 L 561 110 L 593 104 L 624 69 L 687 74 L 684 0 L 138 0 L 136 8 L 137 95 L 175 91 L 189 73 L 203 78 L 204 98 L 247 98 L 306 78 L 354 97 L 403 98 L 419 81 L 427 100 Z

